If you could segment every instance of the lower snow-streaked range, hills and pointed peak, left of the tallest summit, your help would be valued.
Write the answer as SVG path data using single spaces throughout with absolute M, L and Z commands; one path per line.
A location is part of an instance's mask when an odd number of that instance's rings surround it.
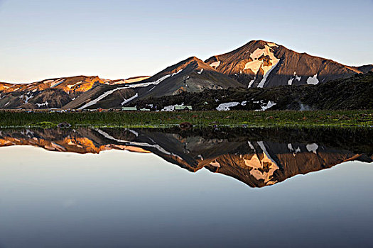
M 173 96 L 242 84 L 190 57 L 153 77 L 107 80 L 99 77 L 48 79 L 32 84 L 0 84 L 0 108 L 120 108 L 134 99 Z

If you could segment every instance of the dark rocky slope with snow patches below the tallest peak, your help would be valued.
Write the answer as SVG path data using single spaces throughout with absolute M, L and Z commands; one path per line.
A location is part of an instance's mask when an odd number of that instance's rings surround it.
M 352 110 L 373 109 L 373 73 L 355 74 L 318 85 L 207 90 L 198 94 L 146 98 L 132 104 L 163 109 L 181 103 L 195 110 Z

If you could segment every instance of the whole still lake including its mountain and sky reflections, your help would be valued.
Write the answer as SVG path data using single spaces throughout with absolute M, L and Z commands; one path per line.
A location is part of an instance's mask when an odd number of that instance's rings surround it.
M 0 130 L 0 247 L 371 247 L 373 130 Z

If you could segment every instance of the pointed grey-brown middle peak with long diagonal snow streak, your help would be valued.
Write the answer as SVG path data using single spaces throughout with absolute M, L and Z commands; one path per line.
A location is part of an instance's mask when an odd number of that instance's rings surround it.
M 100 85 L 63 108 L 118 108 L 142 98 L 199 93 L 207 89 L 242 89 L 242 84 L 217 72 L 197 57 L 163 69 L 153 77 L 126 84 Z

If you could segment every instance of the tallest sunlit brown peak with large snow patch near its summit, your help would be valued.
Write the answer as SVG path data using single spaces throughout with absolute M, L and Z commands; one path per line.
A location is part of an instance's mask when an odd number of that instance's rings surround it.
M 372 64 L 348 67 L 264 40 L 252 40 L 232 52 L 212 56 L 205 62 L 249 88 L 318 84 L 373 69 Z

